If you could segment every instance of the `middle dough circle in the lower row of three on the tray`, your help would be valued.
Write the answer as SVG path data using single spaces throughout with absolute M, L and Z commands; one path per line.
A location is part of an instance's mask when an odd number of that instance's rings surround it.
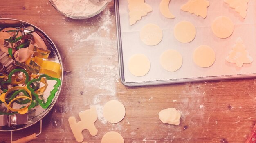
M 162 67 L 169 72 L 175 72 L 180 69 L 182 62 L 182 56 L 176 50 L 166 50 L 160 57 Z

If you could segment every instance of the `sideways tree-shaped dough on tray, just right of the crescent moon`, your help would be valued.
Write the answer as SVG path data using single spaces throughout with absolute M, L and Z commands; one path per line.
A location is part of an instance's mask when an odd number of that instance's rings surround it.
M 210 6 L 210 2 L 207 0 L 189 0 L 184 4 L 181 9 L 182 11 L 189 11 L 189 13 L 195 13 L 196 16 L 205 18 L 207 16 L 207 7 Z

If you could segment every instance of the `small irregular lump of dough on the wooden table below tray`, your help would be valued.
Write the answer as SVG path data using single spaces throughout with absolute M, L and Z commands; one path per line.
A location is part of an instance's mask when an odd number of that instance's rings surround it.
M 177 111 L 175 108 L 168 108 L 161 110 L 159 113 L 159 119 L 163 123 L 168 123 L 172 125 L 179 125 L 180 124 L 180 117 L 181 113 Z

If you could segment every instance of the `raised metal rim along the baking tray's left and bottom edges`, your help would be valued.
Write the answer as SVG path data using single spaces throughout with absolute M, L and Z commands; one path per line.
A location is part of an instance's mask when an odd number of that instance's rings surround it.
M 119 59 L 119 74 L 121 82 L 129 87 L 134 86 L 145 86 L 145 85 L 163 85 L 163 84 L 174 84 L 174 83 L 184 83 L 184 82 L 202 82 L 207 80 L 227 80 L 227 79 L 239 79 L 239 78 L 255 78 L 256 73 L 252 74 L 235 74 L 235 75 L 224 75 L 224 76 L 208 76 L 199 78 L 182 78 L 173 80 L 155 80 L 149 82 L 126 82 L 124 76 L 124 59 L 122 51 L 122 36 L 121 36 L 121 25 L 120 25 L 120 15 L 119 15 L 119 0 L 115 0 L 115 18 L 116 18 L 116 29 L 117 29 L 117 50 Z

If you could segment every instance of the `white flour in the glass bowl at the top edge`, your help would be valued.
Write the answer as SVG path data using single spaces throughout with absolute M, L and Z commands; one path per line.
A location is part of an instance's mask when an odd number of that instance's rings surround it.
M 88 16 L 97 13 L 106 5 L 106 0 L 98 3 L 90 0 L 52 0 L 59 11 L 70 16 Z

